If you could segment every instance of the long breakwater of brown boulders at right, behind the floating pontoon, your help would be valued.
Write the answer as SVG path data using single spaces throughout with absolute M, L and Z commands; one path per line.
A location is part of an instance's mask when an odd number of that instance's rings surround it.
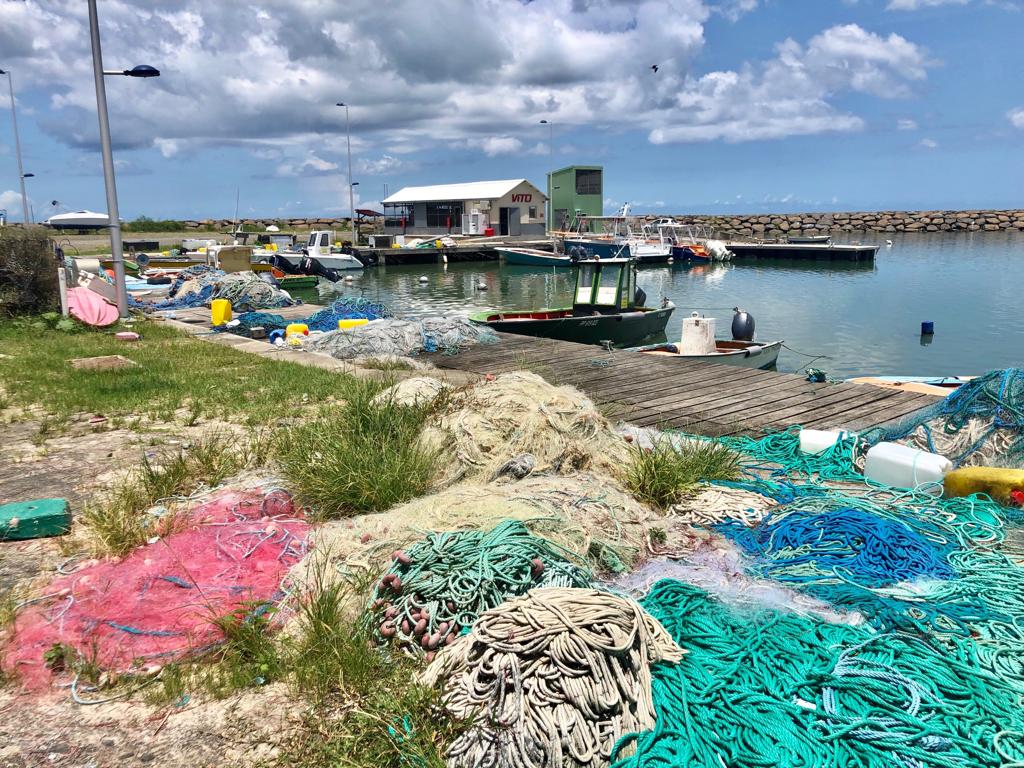
M 1024 231 L 1024 210 L 863 211 L 739 216 L 680 216 L 721 237 L 779 238 L 838 232 Z

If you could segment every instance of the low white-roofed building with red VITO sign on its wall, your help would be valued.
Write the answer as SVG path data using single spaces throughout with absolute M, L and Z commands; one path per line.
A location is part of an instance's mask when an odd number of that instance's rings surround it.
M 544 193 L 524 178 L 407 186 L 383 201 L 386 234 L 544 234 Z

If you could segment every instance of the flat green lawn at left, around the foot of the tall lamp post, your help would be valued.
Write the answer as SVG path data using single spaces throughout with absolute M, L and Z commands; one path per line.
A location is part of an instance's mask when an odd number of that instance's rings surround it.
M 45 324 L 44 324 L 45 326 Z M 195 403 L 222 419 L 258 418 L 266 424 L 292 417 L 310 402 L 333 397 L 349 378 L 336 372 L 265 359 L 220 344 L 194 339 L 156 321 L 135 323 L 142 339 L 125 344 L 113 329 L 63 333 L 44 327 L 26 333 L 0 319 L 0 384 L 11 404 L 39 404 L 55 416 L 99 413 L 153 414 L 173 420 Z M 71 367 L 75 357 L 121 354 L 138 364 L 114 371 Z

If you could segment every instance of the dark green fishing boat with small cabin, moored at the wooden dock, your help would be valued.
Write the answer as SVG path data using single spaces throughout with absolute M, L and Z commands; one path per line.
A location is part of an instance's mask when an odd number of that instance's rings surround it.
M 665 333 L 675 305 L 644 306 L 636 285 L 633 259 L 577 262 L 572 306 L 524 311 L 486 311 L 469 315 L 474 323 L 510 334 L 574 341 L 580 344 L 630 346 Z

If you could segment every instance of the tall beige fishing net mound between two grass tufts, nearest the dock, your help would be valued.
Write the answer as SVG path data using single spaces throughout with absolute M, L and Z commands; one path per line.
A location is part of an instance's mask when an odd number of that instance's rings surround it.
M 626 441 L 586 395 L 527 372 L 455 392 L 423 439 L 452 458 L 447 482 L 490 476 L 522 454 L 536 458 L 537 471 L 595 468 L 613 474 L 627 461 Z

